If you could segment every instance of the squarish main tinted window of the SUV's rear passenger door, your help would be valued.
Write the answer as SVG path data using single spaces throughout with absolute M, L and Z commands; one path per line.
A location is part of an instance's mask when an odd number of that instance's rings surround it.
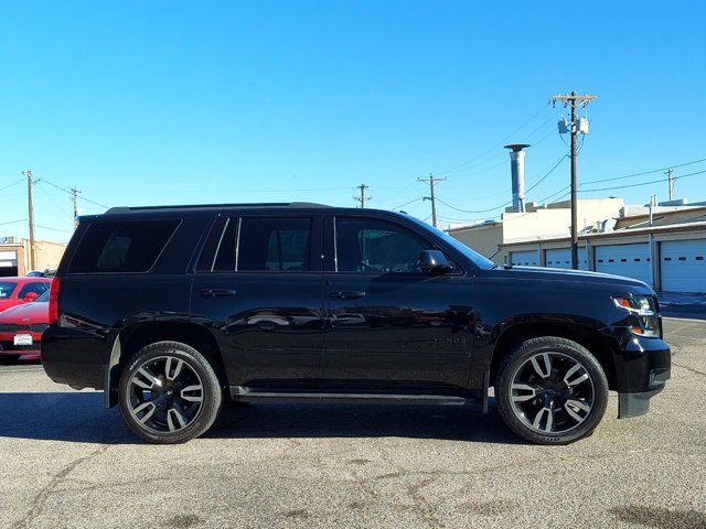
M 310 218 L 244 217 L 240 222 L 238 271 L 311 270 Z

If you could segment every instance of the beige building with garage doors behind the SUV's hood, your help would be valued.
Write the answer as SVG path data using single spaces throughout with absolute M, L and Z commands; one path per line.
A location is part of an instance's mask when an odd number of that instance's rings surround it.
M 706 292 L 706 203 L 625 206 L 578 202 L 579 268 L 639 279 L 666 292 Z M 449 229 L 499 264 L 570 268 L 568 202 L 506 212 L 502 219 Z

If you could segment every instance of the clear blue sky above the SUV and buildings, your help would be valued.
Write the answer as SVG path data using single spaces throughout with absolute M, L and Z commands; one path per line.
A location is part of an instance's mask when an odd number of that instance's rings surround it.
M 446 222 L 510 201 L 567 152 L 549 96 L 599 96 L 579 181 L 706 159 L 704 2 L 7 2 L 0 7 L 0 235 L 66 240 L 98 204 L 312 201 L 392 208 L 437 187 Z M 516 131 L 528 118 L 533 118 Z M 516 132 L 515 132 L 516 131 Z M 513 133 L 514 132 L 514 133 Z M 449 171 L 452 170 L 452 171 Z M 676 175 L 706 170 L 706 162 Z M 561 163 L 528 194 L 568 184 Z M 653 173 L 609 184 L 639 184 Z M 676 182 L 706 201 L 706 173 Z M 3 188 L 6 187 L 6 188 Z M 644 204 L 666 183 L 582 193 Z M 561 196 L 560 194 L 557 196 Z M 85 213 L 101 207 L 82 202 Z M 429 203 L 404 209 L 426 218 Z M 54 229 L 47 229 L 54 228 Z

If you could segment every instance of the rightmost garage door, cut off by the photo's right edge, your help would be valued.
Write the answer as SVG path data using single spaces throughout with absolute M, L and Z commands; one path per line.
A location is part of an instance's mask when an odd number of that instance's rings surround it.
M 706 292 L 706 239 L 661 244 L 662 290 Z

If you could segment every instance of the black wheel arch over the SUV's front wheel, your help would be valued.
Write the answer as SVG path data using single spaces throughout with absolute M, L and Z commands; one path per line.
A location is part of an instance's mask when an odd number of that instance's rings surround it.
M 490 368 L 490 384 L 494 384 L 498 375 L 498 368 L 500 367 L 503 358 L 510 354 L 510 352 L 527 339 L 544 336 L 557 336 L 570 339 L 586 347 L 596 357 L 606 373 L 609 389 L 616 388 L 617 375 L 613 349 L 606 336 L 597 328 L 586 324 L 549 321 L 515 323 L 503 330 L 495 343 L 495 347 L 493 348 Z

